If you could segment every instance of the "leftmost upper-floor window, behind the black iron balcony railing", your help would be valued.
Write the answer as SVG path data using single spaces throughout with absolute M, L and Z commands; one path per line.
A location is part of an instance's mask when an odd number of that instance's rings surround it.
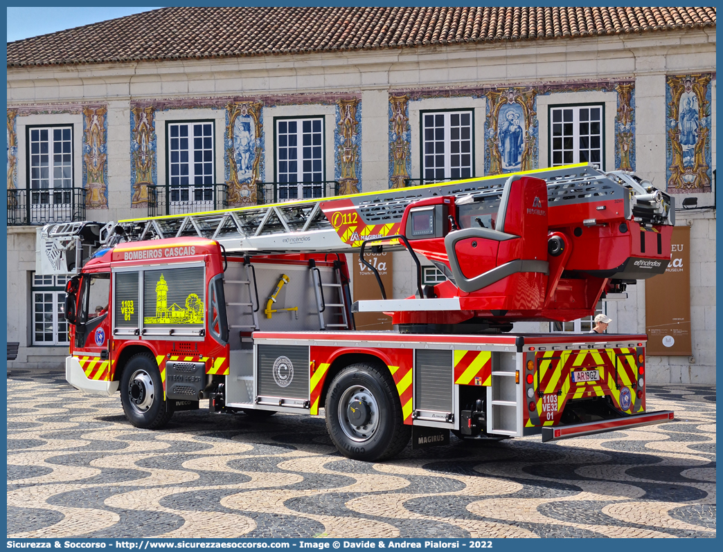
M 40 212 L 47 212 L 48 206 L 67 207 L 72 203 L 72 126 L 30 126 L 27 147 L 31 220 L 35 222 L 44 220 Z

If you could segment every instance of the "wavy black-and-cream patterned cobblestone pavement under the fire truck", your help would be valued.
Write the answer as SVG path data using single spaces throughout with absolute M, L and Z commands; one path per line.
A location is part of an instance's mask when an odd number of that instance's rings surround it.
M 63 374 L 8 379 L 7 534 L 32 537 L 715 537 L 715 389 L 650 387 L 676 421 L 542 444 L 451 437 L 370 464 L 323 418 L 203 410 L 139 430 Z

